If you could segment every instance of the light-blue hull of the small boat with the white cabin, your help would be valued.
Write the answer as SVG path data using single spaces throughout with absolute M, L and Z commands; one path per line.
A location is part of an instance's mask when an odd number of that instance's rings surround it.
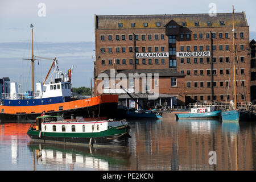
M 184 113 L 175 115 L 176 119 L 216 119 L 221 116 L 221 110 L 210 111 L 205 113 Z

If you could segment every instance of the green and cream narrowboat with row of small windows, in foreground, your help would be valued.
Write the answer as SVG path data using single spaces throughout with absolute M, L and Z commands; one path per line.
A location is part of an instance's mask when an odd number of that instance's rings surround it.
M 125 120 L 85 121 L 82 117 L 72 117 L 67 121 L 61 116 L 43 115 L 31 123 L 27 135 L 40 142 L 127 146 L 129 130 Z

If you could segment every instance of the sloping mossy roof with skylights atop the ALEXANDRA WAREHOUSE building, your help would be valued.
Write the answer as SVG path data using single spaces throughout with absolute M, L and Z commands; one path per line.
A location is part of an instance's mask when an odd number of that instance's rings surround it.
M 209 16 L 209 14 L 95 15 L 95 28 L 163 28 L 170 20 L 174 20 L 187 28 L 232 27 L 232 13 L 217 13 L 216 16 Z M 248 26 L 245 11 L 234 13 L 234 20 L 235 27 Z M 199 22 L 199 24 L 195 22 Z M 210 25 L 208 22 L 210 22 Z M 134 27 L 131 27 L 131 23 L 135 23 Z M 156 23 L 158 23 L 158 26 L 156 26 Z

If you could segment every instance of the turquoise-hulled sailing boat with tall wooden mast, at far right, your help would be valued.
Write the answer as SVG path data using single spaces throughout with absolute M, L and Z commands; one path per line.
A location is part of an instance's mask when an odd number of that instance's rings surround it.
M 250 113 L 247 110 L 242 110 L 237 108 L 237 93 L 236 93 L 236 48 L 235 48 L 235 40 L 234 40 L 234 6 L 233 6 L 233 68 L 234 68 L 234 104 L 231 110 L 222 111 L 221 117 L 222 121 L 228 122 L 240 122 L 240 121 L 249 121 Z

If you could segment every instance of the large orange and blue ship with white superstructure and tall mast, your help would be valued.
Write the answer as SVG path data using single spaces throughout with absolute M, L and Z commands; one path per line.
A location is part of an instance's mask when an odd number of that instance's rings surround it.
M 18 84 L 11 82 L 10 93 L 2 94 L 0 101 L 0 121 L 35 121 L 43 112 L 47 115 L 62 115 L 63 118 L 84 117 L 90 119 L 106 119 L 113 117 L 117 105 L 117 94 L 105 94 L 87 99 L 77 100 L 73 97 L 71 76 L 73 69 L 68 73 L 61 73 L 56 57 L 44 82 L 36 83 L 34 90 L 34 61 L 33 26 L 32 28 L 32 91 L 18 93 Z M 42 57 L 39 57 L 42 58 Z M 51 72 L 51 76 L 48 77 Z M 88 120 L 90 120 L 88 119 Z

